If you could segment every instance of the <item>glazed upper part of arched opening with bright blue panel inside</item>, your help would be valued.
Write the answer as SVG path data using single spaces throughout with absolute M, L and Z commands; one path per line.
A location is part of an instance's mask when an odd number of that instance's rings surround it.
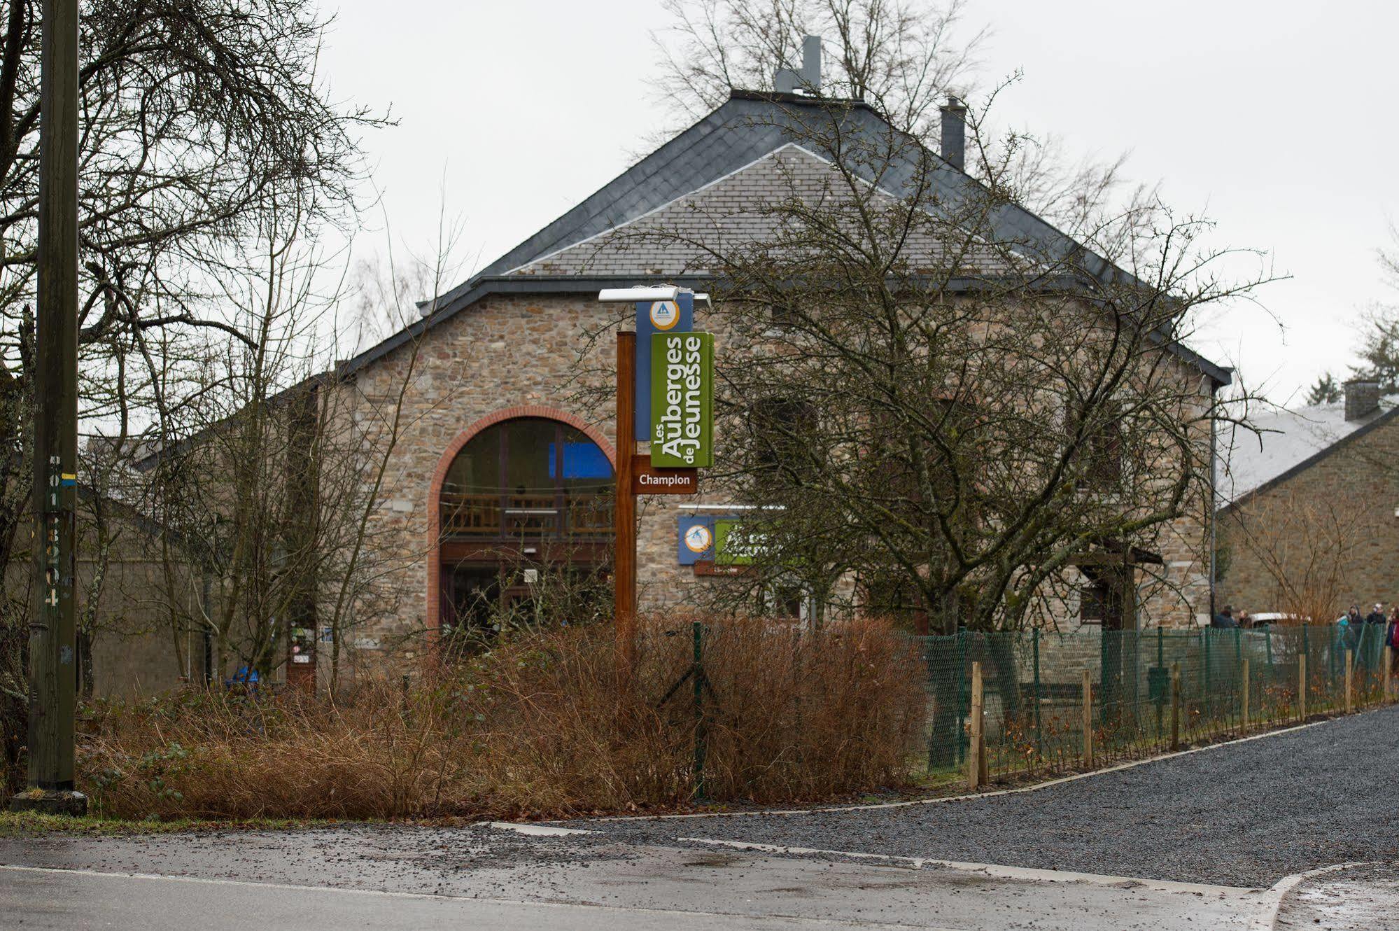
M 490 426 L 462 447 L 442 482 L 442 533 L 499 540 L 611 529 L 607 454 L 544 417 Z

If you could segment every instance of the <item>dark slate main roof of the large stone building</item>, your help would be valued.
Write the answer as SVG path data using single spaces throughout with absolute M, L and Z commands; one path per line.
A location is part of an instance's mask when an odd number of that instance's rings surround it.
M 754 165 L 792 143 L 810 136 L 810 126 L 820 120 L 835 120 L 849 136 L 887 139 L 894 132 L 867 104 L 859 101 L 813 99 L 793 94 L 733 91 L 730 98 L 713 112 L 670 139 L 621 175 L 603 185 L 582 203 L 529 237 L 518 246 L 481 269 L 457 287 L 425 301 L 434 308 L 421 321 L 406 326 L 378 346 L 341 363 L 340 374 L 348 375 L 420 333 L 453 316 L 464 307 L 491 293 L 583 293 L 592 287 L 628 287 L 645 283 L 635 269 L 578 262 L 547 270 L 543 259 L 557 256 L 617 227 L 646 217 L 677 199 L 725 179 L 739 169 Z M 831 123 L 828 123 L 831 125 Z M 884 190 L 901 196 L 901 189 L 918 178 L 921 162 L 909 153 L 914 146 L 902 146 L 905 154 L 887 167 L 880 178 Z M 933 160 L 932 185 L 940 202 L 956 209 L 958 203 L 979 202 L 985 189 L 965 172 L 953 168 L 937 155 Z M 1003 244 L 1032 244 L 1039 255 L 1076 256 L 1076 266 L 1101 280 L 1136 281 L 1130 274 L 1053 228 L 1028 210 L 1011 203 L 996 206 L 989 216 L 995 235 Z M 575 255 L 575 258 L 578 258 Z M 687 265 L 681 262 L 681 265 Z M 527 267 L 534 266 L 534 267 Z M 648 267 L 665 267 L 648 266 Z M 519 274 L 530 272 L 530 274 Z M 683 280 L 676 280 L 676 276 Z M 583 280 L 586 276 L 586 281 Z M 621 277 L 616 277 L 621 276 Z M 706 287 L 706 274 L 695 269 L 674 269 L 670 274 L 656 274 L 681 286 Z M 529 279 L 520 281 L 519 279 Z M 967 286 L 974 280 L 968 277 Z M 1200 357 L 1192 350 L 1171 343 L 1171 351 L 1200 368 L 1216 384 L 1227 385 L 1230 371 Z

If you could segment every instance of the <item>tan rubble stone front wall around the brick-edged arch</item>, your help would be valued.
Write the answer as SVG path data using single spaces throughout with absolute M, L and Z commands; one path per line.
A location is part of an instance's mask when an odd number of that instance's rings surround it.
M 344 637 L 347 661 L 355 652 L 395 651 L 413 658 L 438 624 L 438 602 L 429 594 L 438 574 L 434 489 L 452 456 L 476 431 L 512 416 L 565 420 L 586 431 L 609 452 L 611 371 L 616 337 L 609 323 L 616 307 L 600 305 L 592 293 L 576 295 L 490 295 L 439 323 L 417 346 L 406 343 L 361 370 L 340 391 L 333 406 L 375 442 L 407 379 L 400 435 L 383 480 L 385 493 L 371 521 L 376 542 L 369 561 L 381 584 L 374 599 L 358 606 L 358 623 Z M 702 315 L 700 326 L 711 328 Z M 722 347 L 723 335 L 718 344 Z M 1203 403 L 1203 402 L 1202 402 Z M 722 456 L 723 438 L 718 438 Z M 722 489 L 702 483 L 694 498 L 648 497 L 638 503 L 639 606 L 667 610 L 694 605 L 697 588 L 727 584 L 697 577 L 676 557 L 677 525 L 694 504 L 730 503 Z M 1199 497 L 1199 496 L 1196 496 Z M 1207 535 L 1203 505 L 1160 535 L 1161 581 L 1144 575 L 1142 624 L 1184 626 L 1207 610 Z M 1056 615 L 1076 626 L 1073 605 Z

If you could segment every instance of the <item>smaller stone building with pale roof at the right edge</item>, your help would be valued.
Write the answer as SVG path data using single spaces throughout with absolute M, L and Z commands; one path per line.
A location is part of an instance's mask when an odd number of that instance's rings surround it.
M 1323 623 L 1399 601 L 1399 406 L 1375 381 L 1344 388 L 1220 437 L 1220 608 Z

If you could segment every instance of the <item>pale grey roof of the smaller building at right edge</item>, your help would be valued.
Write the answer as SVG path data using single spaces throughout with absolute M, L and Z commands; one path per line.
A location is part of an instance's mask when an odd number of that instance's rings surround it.
M 1309 405 L 1295 410 L 1252 414 L 1260 431 L 1221 431 L 1216 456 L 1217 507 L 1238 504 L 1248 496 L 1269 489 L 1321 459 L 1340 452 L 1361 437 L 1399 414 L 1396 399 L 1382 399 L 1379 407 L 1358 420 L 1346 420 L 1344 402 Z

